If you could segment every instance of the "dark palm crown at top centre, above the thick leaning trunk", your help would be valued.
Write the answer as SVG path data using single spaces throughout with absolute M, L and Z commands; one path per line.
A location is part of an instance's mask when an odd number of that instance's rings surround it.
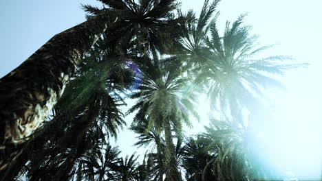
M 121 26 L 118 31 L 107 32 L 107 41 L 118 38 L 120 42 L 128 43 L 133 40 L 133 45 L 138 53 L 147 53 L 151 49 L 164 51 L 162 40 L 169 40 L 169 28 L 182 21 L 184 17 L 175 19 L 173 10 L 178 9 L 179 3 L 175 0 L 99 0 L 103 3 L 102 9 L 92 5 L 83 5 L 89 16 L 102 13 L 114 13 L 118 16 Z M 169 26 L 170 25 L 170 26 Z

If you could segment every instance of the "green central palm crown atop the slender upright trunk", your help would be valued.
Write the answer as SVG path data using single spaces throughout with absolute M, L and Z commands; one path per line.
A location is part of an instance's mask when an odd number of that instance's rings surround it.
M 195 95 L 184 93 L 189 80 L 182 77 L 175 57 L 165 60 L 146 57 L 145 65 L 140 67 L 142 82 L 138 91 L 130 97 L 138 99 L 137 104 L 127 114 L 138 110 L 134 121 L 149 120 L 149 129 L 163 128 L 164 119 L 169 119 L 176 128 L 181 129 L 181 121 L 189 124 L 189 114 L 198 117 L 193 110 Z M 177 70 L 176 70 L 177 69 Z

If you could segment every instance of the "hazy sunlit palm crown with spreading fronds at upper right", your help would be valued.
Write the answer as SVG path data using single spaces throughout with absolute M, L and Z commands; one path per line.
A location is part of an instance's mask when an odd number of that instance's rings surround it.
M 204 62 L 197 82 L 208 85 L 212 105 L 239 121 L 242 108 L 253 110 L 261 90 L 281 86 L 272 75 L 281 75 L 285 70 L 303 64 L 285 64 L 286 56 L 258 58 L 258 53 L 269 47 L 257 47 L 257 36 L 250 35 L 250 26 L 243 26 L 243 16 L 230 25 L 226 23 L 224 36 L 219 36 L 216 19 L 206 28 L 204 43 L 210 53 Z

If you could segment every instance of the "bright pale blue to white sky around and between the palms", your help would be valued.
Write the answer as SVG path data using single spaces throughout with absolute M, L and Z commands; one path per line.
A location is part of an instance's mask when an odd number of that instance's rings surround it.
M 182 8 L 199 12 L 203 0 L 184 0 Z M 0 77 L 6 75 L 39 49 L 55 34 L 85 21 L 80 3 L 99 5 L 94 0 L 10 0 L 0 1 Z M 292 56 L 297 62 L 309 62 L 308 69 L 292 71 L 283 77 L 286 92 L 268 95 L 274 121 L 259 137 L 267 148 L 267 157 L 280 167 L 289 168 L 290 175 L 318 178 L 322 164 L 321 49 L 322 21 L 320 0 L 223 0 L 219 29 L 226 20 L 248 12 L 245 22 L 253 25 L 261 45 L 275 44 L 268 55 Z M 130 121 L 131 118 L 127 118 Z M 195 125 L 194 130 L 201 130 Z M 125 154 L 138 149 L 131 147 L 134 134 L 125 131 L 118 145 Z

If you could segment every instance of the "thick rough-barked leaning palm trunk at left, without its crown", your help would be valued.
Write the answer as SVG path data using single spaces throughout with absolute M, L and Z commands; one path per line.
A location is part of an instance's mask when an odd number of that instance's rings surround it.
M 83 54 L 107 29 L 96 16 L 56 34 L 19 67 L 0 80 L 0 170 L 12 148 L 24 143 L 63 94 Z

